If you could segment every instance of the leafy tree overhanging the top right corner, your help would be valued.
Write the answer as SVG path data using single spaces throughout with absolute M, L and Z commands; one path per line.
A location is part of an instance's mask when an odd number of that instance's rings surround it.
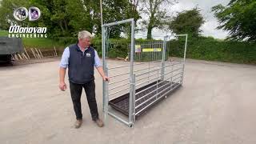
M 217 5 L 212 11 L 220 26 L 229 31 L 228 39 L 256 42 L 256 1 L 231 0 L 227 6 Z

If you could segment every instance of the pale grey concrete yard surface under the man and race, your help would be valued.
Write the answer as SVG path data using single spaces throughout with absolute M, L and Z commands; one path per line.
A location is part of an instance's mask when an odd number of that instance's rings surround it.
M 256 143 L 256 66 L 187 60 L 183 86 L 133 128 L 114 118 L 98 128 L 83 91 L 84 119 L 77 130 L 70 89 L 58 89 L 58 63 L 0 67 L 1 144 Z M 96 70 L 95 78 L 102 118 L 102 78 Z

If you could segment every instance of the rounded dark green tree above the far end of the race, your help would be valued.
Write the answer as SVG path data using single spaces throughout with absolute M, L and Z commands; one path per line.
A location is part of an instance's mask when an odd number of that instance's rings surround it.
M 200 27 L 205 21 L 200 14 L 198 8 L 193 10 L 184 10 L 170 22 L 169 28 L 175 34 L 189 34 L 191 36 L 198 36 L 202 32 Z

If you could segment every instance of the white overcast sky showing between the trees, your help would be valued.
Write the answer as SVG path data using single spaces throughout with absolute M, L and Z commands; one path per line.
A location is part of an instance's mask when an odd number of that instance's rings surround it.
M 205 23 L 201 27 L 202 35 L 212 36 L 214 38 L 226 38 L 227 32 L 223 30 L 217 30 L 218 20 L 214 18 L 214 14 L 211 12 L 211 7 L 218 4 L 226 6 L 230 0 L 178 0 L 178 3 L 170 7 L 170 11 L 180 12 L 182 10 L 191 10 L 195 6 L 198 6 L 202 11 L 201 14 L 205 18 Z M 154 38 L 159 38 L 165 32 L 154 29 L 152 35 Z M 138 32 L 136 38 L 146 38 L 146 32 Z

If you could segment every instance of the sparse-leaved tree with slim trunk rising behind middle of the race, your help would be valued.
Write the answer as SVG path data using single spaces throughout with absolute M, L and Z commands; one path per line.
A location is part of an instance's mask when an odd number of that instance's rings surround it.
M 147 39 L 152 38 L 154 28 L 162 29 L 166 25 L 166 21 L 170 18 L 166 9 L 174 2 L 176 0 L 142 0 L 142 14 L 146 15 L 146 20 L 143 20 L 142 24 L 146 26 Z

